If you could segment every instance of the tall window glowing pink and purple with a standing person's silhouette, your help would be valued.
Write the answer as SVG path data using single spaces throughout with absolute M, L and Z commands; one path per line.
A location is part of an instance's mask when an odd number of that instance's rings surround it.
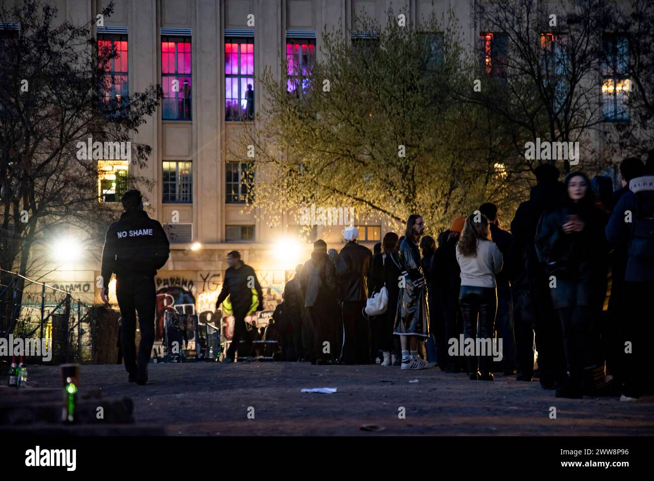
M 254 39 L 225 39 L 225 120 L 254 120 Z

